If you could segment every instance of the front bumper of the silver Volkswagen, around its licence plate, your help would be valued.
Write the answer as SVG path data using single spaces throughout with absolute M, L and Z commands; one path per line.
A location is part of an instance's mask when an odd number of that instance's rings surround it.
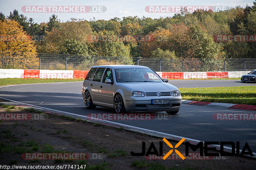
M 182 102 L 181 96 L 164 97 L 131 97 L 124 96 L 124 106 L 127 112 L 159 112 L 177 111 Z M 168 104 L 151 104 L 152 99 L 169 99 Z

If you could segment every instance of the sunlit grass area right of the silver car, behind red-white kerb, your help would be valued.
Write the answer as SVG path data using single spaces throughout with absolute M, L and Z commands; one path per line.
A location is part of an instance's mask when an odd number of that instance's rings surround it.
M 180 88 L 183 100 L 256 105 L 255 86 Z

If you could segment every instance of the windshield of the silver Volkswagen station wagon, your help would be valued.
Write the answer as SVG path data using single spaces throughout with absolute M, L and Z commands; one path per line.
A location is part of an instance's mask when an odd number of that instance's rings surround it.
M 116 82 L 163 82 L 163 80 L 151 69 L 131 68 L 115 69 Z

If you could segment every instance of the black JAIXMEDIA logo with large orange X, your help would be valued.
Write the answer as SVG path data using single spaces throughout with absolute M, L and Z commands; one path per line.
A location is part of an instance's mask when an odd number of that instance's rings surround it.
M 145 156 L 146 158 L 149 155 L 156 155 L 156 156 L 161 156 L 162 159 L 167 159 L 172 153 L 173 150 L 174 152 L 180 156 L 181 159 L 186 159 L 184 157 L 183 154 L 180 153 L 180 151 L 177 150 L 177 148 L 180 146 L 180 144 L 182 144 L 185 139 L 182 138 L 173 148 L 173 145 L 167 140 L 167 139 L 163 139 L 163 141 L 171 148 L 171 150 L 169 152 L 167 152 L 164 156 L 163 156 L 163 142 L 160 141 L 159 142 L 159 152 L 156 149 L 155 144 L 152 142 L 150 144 L 150 146 L 148 147 L 148 150 L 146 152 L 146 142 L 142 141 L 142 152 L 139 153 L 134 153 L 131 152 L 132 156 Z M 217 146 L 216 146 L 217 145 Z M 231 152 L 225 152 L 224 149 L 226 149 L 226 146 L 231 148 Z M 220 148 L 220 153 L 219 151 L 217 151 L 217 148 Z M 246 142 L 244 144 L 244 147 L 242 149 L 242 151 L 240 152 L 240 143 L 239 142 L 216 142 L 216 141 L 205 141 L 205 142 L 198 142 L 197 144 L 190 144 L 188 141 L 185 142 L 185 156 L 188 158 L 189 154 L 191 154 L 191 150 L 192 151 L 196 151 L 197 149 L 199 149 L 200 151 L 200 156 L 202 157 L 207 157 L 207 156 L 216 156 L 216 157 L 220 157 L 220 156 L 239 156 L 239 155 L 250 155 L 250 156 L 254 156 L 252 153 L 252 150 L 250 149 L 249 144 Z M 152 151 L 153 150 L 153 151 Z M 189 153 L 190 152 L 190 153 Z M 195 153 L 192 154 L 195 154 Z M 146 153 L 146 154 L 145 154 Z

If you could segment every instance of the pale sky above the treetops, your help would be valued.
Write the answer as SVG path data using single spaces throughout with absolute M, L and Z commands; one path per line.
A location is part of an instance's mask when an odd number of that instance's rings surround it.
M 96 20 L 105 19 L 109 20 L 114 17 L 122 18 L 125 16 L 138 16 L 142 18 L 150 17 L 150 18 L 160 18 L 160 17 L 172 17 L 174 12 L 147 12 L 145 8 L 147 6 L 228 6 L 228 7 L 236 7 L 241 6 L 245 7 L 246 4 L 252 6 L 251 0 L 238 0 L 238 1 L 220 1 L 220 0 L 212 0 L 212 1 L 204 1 L 204 0 L 180 0 L 180 1 L 169 1 L 169 0 L 108 0 L 108 1 L 88 1 L 88 0 L 44 0 L 44 1 L 34 1 L 34 0 L 1 0 L 0 1 L 0 11 L 4 13 L 4 15 L 9 15 L 10 11 L 14 9 L 18 10 L 20 14 L 27 16 L 28 18 L 33 18 L 34 22 L 40 24 L 41 22 L 47 22 L 49 17 L 52 14 L 58 15 L 60 21 L 66 22 L 70 18 L 84 18 L 86 20 L 93 19 L 95 17 Z M 105 6 L 105 12 L 68 12 L 68 13 L 30 13 L 23 12 L 23 6 Z

